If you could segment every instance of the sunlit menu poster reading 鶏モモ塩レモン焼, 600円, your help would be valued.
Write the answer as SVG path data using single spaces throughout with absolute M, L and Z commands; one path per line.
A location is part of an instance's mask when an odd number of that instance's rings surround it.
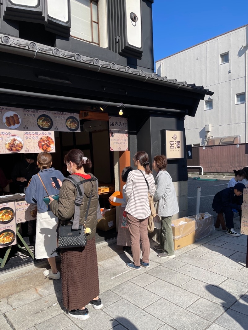
M 54 132 L 23 132 L 24 152 L 55 152 Z

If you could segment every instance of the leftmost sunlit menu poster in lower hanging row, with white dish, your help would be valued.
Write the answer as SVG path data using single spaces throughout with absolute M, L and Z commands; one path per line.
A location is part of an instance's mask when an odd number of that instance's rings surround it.
M 23 153 L 23 132 L 0 129 L 0 153 Z

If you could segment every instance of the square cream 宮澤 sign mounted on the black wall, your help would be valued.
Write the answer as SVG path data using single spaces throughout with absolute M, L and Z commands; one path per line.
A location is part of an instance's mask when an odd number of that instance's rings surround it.
M 167 159 L 184 158 L 184 132 L 165 131 L 165 145 Z

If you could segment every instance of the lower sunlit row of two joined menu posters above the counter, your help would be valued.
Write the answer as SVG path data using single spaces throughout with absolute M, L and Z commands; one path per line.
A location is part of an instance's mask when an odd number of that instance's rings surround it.
M 54 132 L 0 129 L 0 153 L 55 152 Z

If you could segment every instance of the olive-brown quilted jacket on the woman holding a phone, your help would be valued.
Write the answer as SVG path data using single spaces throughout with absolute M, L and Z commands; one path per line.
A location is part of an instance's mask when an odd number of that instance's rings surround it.
M 90 174 L 90 173 L 89 173 Z M 92 177 L 93 175 L 90 174 Z M 82 177 L 79 177 L 81 181 L 85 180 Z M 85 182 L 83 183 L 84 187 L 84 197 L 82 204 L 80 206 L 80 219 L 79 224 L 83 224 L 85 220 L 86 209 L 92 189 L 92 198 L 90 202 L 88 217 L 85 223 L 86 227 L 91 229 L 91 234 L 87 235 L 87 240 L 93 238 L 96 234 L 97 220 L 102 218 L 100 212 L 100 206 L 98 202 L 98 184 L 97 181 Z M 60 197 L 59 200 L 52 201 L 50 203 L 51 211 L 56 215 L 59 219 L 61 219 L 62 224 L 65 220 L 69 220 L 74 215 L 74 202 L 77 196 L 77 191 L 75 186 L 69 181 L 63 181 L 62 187 L 60 189 Z

